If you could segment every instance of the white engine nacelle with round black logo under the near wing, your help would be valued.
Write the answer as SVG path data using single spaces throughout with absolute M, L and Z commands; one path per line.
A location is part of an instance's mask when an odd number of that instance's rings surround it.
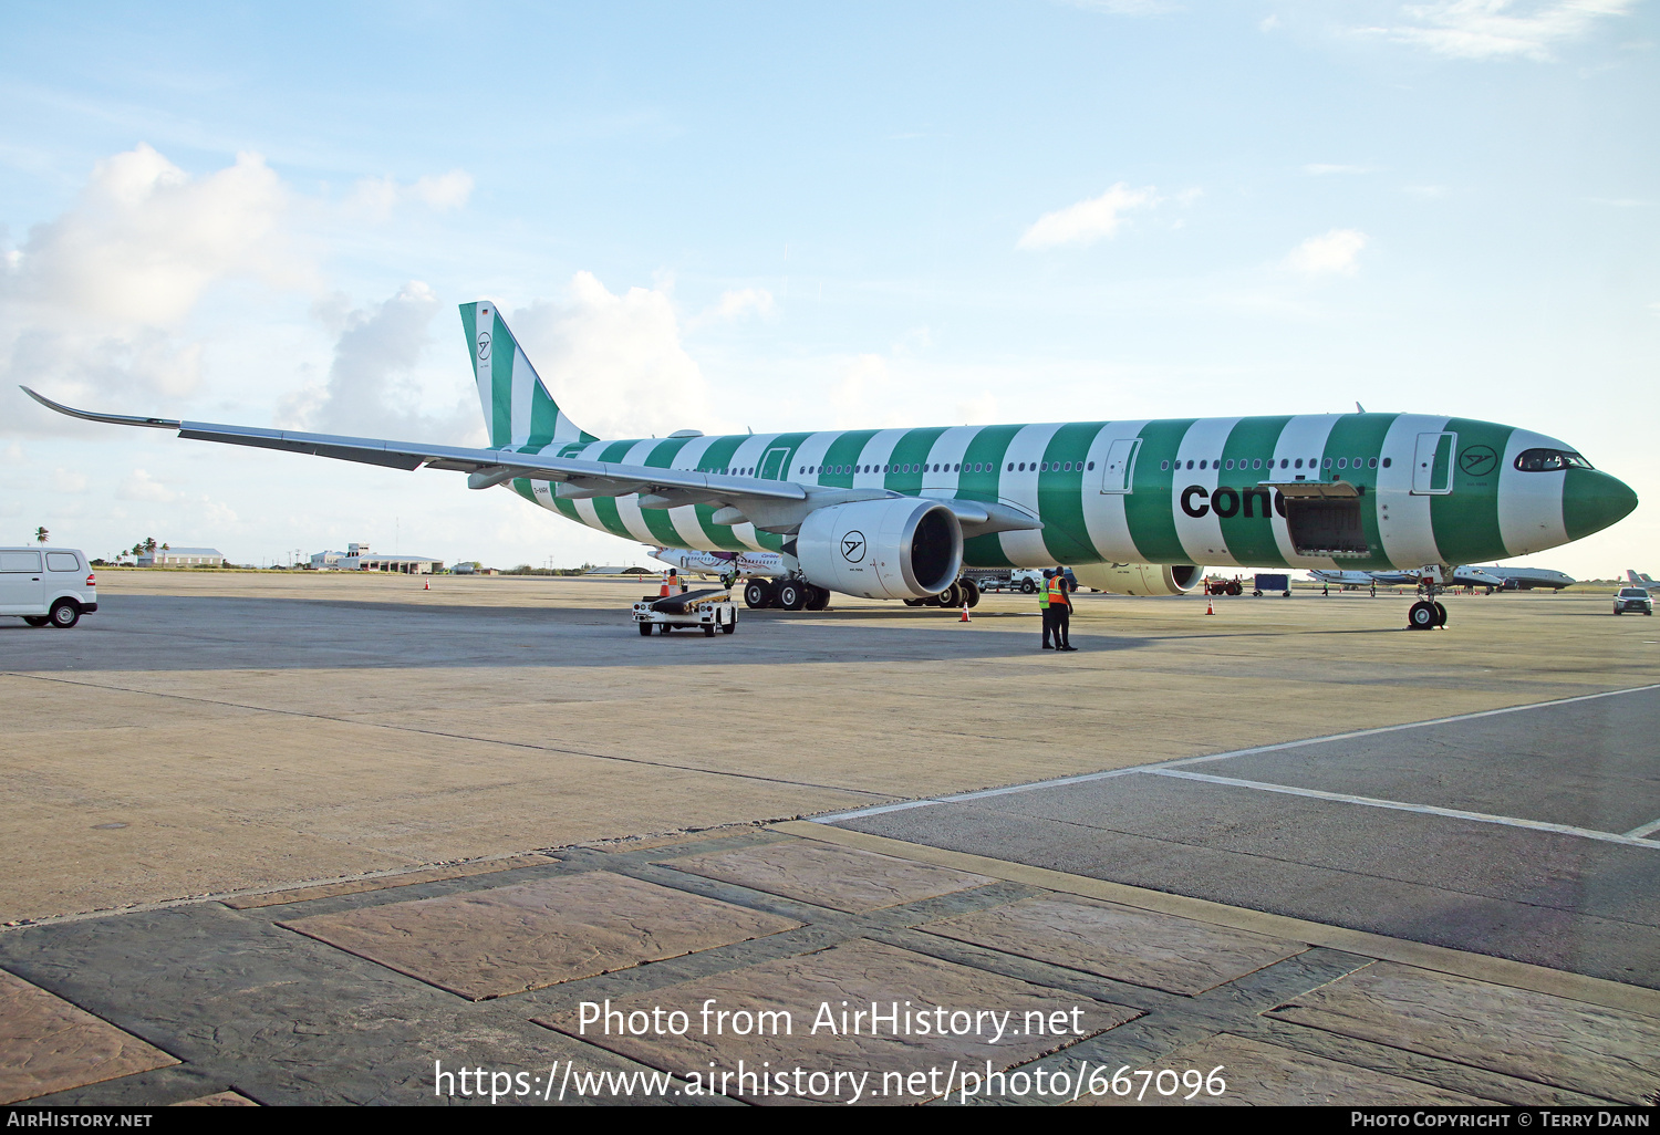
M 936 596 L 963 569 L 963 526 L 915 496 L 813 509 L 795 538 L 810 582 L 865 599 Z

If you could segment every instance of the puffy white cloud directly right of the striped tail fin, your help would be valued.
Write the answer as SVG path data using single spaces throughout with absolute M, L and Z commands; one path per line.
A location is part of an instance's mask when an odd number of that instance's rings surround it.
M 664 289 L 616 295 L 593 272 L 578 272 L 564 302 L 536 300 L 508 325 L 559 408 L 589 433 L 714 433 L 727 423 L 714 416 L 709 383 L 681 345 Z

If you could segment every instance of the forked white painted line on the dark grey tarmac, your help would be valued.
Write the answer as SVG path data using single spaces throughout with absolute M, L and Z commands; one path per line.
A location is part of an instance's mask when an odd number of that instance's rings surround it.
M 1481 720 L 1482 717 L 1502 717 L 1506 714 L 1524 714 L 1527 710 L 1536 710 L 1536 709 L 1550 709 L 1550 707 L 1555 707 L 1555 705 L 1572 705 L 1574 702 L 1595 702 L 1595 700 L 1604 699 L 1604 697 L 1618 697 L 1622 694 L 1643 694 L 1647 690 L 1660 690 L 1660 682 L 1653 682 L 1650 685 L 1633 685 L 1633 687 L 1625 689 L 1625 690 L 1604 690 L 1602 694 L 1579 694 L 1575 697 L 1559 697 L 1559 699 L 1555 699 L 1552 702 L 1531 702 L 1527 705 L 1507 705 L 1506 709 L 1479 710 L 1476 714 L 1457 714 L 1454 717 L 1436 717 L 1436 719 L 1428 720 L 1428 722 L 1404 722 L 1401 725 L 1379 725 L 1378 728 L 1358 728 L 1358 730 L 1353 730 L 1350 733 L 1328 733 L 1326 737 L 1308 737 L 1305 740 L 1280 742 L 1278 745 L 1257 745 L 1253 748 L 1235 748 L 1235 750 L 1230 750 L 1230 752 L 1225 752 L 1225 753 L 1210 753 L 1207 757 L 1182 757 L 1180 760 L 1162 760 L 1162 762 L 1157 762 L 1154 765 L 1130 765 L 1129 768 L 1112 768 L 1112 770 L 1107 770 L 1107 772 L 1082 773 L 1082 775 L 1077 775 L 1077 777 L 1057 777 L 1054 780 L 1034 780 L 1034 782 L 1029 782 L 1029 783 L 1024 783 L 1024 785 L 1008 785 L 1004 788 L 983 788 L 979 792 L 963 792 L 963 793 L 958 793 L 958 795 L 953 795 L 953 796 L 930 796 L 930 798 L 925 798 L 925 800 L 905 800 L 901 803 L 875 805 L 872 808 L 855 808 L 853 811 L 837 811 L 837 813 L 825 815 L 825 816 L 810 816 L 810 820 L 813 823 L 842 823 L 843 820 L 860 820 L 863 816 L 880 816 L 885 811 L 906 811 L 908 808 L 930 808 L 933 805 L 941 805 L 941 803 L 968 803 L 971 800 L 988 800 L 991 796 L 1013 796 L 1013 795 L 1023 793 L 1023 792 L 1042 792 L 1046 788 L 1064 788 L 1067 785 L 1086 785 L 1086 783 L 1091 783 L 1091 782 L 1096 782 L 1096 780 L 1111 780 L 1112 777 L 1130 777 L 1130 775 L 1135 775 L 1135 773 L 1157 773 L 1157 772 L 1167 772 L 1167 770 L 1174 770 L 1174 768 L 1182 768 L 1184 765 L 1200 765 L 1200 763 L 1207 763 L 1207 762 L 1212 762 L 1212 760 L 1228 760 L 1232 757 L 1252 757 L 1255 753 L 1278 753 L 1278 752 L 1285 752 L 1288 748 L 1303 748 L 1305 745 L 1323 745 L 1326 742 L 1336 742 L 1336 740 L 1355 740 L 1355 738 L 1360 738 L 1360 737 L 1378 737 L 1379 733 L 1398 733 L 1398 732 L 1406 730 L 1406 728 L 1429 728 L 1433 725 L 1452 725 L 1452 723 L 1457 723 L 1457 722 L 1474 722 L 1474 720 Z M 1195 777 L 1195 778 L 1197 780 L 1208 780 L 1208 777 Z M 1222 780 L 1223 783 L 1230 783 L 1230 782 L 1227 782 L 1227 778 L 1220 778 L 1220 777 L 1215 778 L 1215 780 Z M 1539 823 L 1539 821 L 1534 821 L 1534 820 L 1512 820 L 1509 816 L 1486 816 L 1484 813 L 1479 813 L 1479 811 L 1457 811 L 1454 808 L 1433 808 L 1429 805 L 1408 805 L 1408 803 L 1394 803 L 1394 801 L 1384 801 L 1384 800 L 1370 801 L 1366 796 L 1343 796 L 1341 793 L 1320 793 L 1320 792 L 1315 792 L 1311 788 L 1286 788 L 1283 785 L 1265 785 L 1265 783 L 1260 783 L 1260 782 L 1247 782 L 1247 780 L 1232 782 L 1232 783 L 1252 785 L 1252 787 L 1260 787 L 1260 788 L 1273 788 L 1275 792 L 1290 792 L 1293 795 L 1326 796 L 1326 798 L 1331 798 L 1331 800 L 1346 800 L 1346 801 L 1351 801 L 1351 803 L 1363 803 L 1365 801 L 1365 803 L 1373 803 L 1374 806 L 1404 808 L 1404 810 L 1411 810 L 1411 811 L 1428 811 L 1428 813 L 1434 813 L 1434 815 L 1459 816 L 1459 818 L 1464 818 L 1464 820 L 1482 820 L 1486 823 L 1512 823 L 1512 825 L 1522 826 L 1522 828 L 1539 828 L 1539 830 L 1544 830 L 1544 831 L 1562 831 L 1562 833 L 1572 833 L 1572 835 L 1584 835 L 1584 836 L 1597 838 L 1597 840 L 1614 840 L 1615 843 L 1632 843 L 1635 846 L 1643 846 L 1643 848 L 1660 846 L 1660 845 L 1655 845 L 1655 843 L 1650 843 L 1650 841 L 1643 841 L 1638 836 L 1638 833 L 1648 835 L 1652 831 L 1660 831 L 1660 820 L 1657 820 L 1652 825 L 1645 825 L 1642 828 L 1637 828 L 1635 831 L 1627 831 L 1625 835 L 1615 835 L 1612 831 L 1592 831 L 1590 828 L 1572 828 L 1572 826 L 1567 826 L 1567 825 Z

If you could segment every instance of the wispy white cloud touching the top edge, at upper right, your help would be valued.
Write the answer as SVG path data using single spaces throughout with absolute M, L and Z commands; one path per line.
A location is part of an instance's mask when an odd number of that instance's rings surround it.
M 1549 60 L 1552 46 L 1577 40 L 1597 20 L 1632 12 L 1635 0 L 1434 0 L 1409 3 L 1411 23 L 1368 28 L 1398 43 L 1462 60 Z

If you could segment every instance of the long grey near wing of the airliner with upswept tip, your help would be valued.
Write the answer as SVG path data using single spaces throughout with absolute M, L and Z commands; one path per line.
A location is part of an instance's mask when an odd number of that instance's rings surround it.
M 644 508 L 674 508 L 679 504 L 749 501 L 805 501 L 807 490 L 792 481 L 769 481 L 757 476 L 725 476 L 692 470 L 659 470 L 644 465 L 619 465 L 614 461 L 583 461 L 576 458 L 541 456 L 513 450 L 470 450 L 452 445 L 425 445 L 413 441 L 383 441 L 378 438 L 349 438 L 329 433 L 299 433 L 295 430 L 262 430 L 257 426 L 216 425 L 208 421 L 174 421 L 171 418 L 144 418 L 123 413 L 93 413 L 76 410 L 22 388 L 30 398 L 71 418 L 108 421 L 113 425 L 178 430 L 181 438 L 199 441 L 226 441 L 252 445 L 264 450 L 309 453 L 339 461 L 359 461 L 393 470 L 455 470 L 468 473 L 470 488 L 490 488 L 516 476 L 538 481 L 559 481 L 558 494 L 568 498 L 622 496 L 647 493 Z M 654 499 L 656 498 L 656 499 Z

